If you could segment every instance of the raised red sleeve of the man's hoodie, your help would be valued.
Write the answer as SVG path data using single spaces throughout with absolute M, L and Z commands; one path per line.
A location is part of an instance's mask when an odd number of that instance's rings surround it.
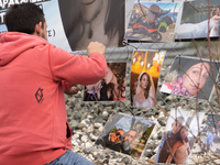
M 51 46 L 48 63 L 55 81 L 62 81 L 68 89 L 75 85 L 91 85 L 107 74 L 107 62 L 103 55 L 92 53 L 89 57 L 73 55 Z

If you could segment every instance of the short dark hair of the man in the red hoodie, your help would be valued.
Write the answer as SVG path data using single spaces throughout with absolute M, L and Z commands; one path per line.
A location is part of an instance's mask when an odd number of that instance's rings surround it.
M 33 34 L 35 25 L 40 22 L 42 22 L 42 28 L 44 28 L 43 10 L 34 3 L 11 6 L 6 14 L 6 25 L 9 32 Z

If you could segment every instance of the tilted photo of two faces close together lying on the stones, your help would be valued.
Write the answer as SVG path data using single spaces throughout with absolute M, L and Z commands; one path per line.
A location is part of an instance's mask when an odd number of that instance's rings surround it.
M 114 113 L 95 144 L 140 158 L 154 127 L 152 121 Z

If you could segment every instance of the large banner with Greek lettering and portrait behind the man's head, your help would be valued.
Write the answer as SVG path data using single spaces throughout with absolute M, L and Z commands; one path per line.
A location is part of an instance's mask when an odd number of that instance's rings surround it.
M 86 50 L 91 41 L 122 46 L 124 0 L 6 0 L 0 1 L 0 33 L 7 32 L 6 12 L 12 4 L 32 2 L 43 9 L 48 42 L 68 52 Z

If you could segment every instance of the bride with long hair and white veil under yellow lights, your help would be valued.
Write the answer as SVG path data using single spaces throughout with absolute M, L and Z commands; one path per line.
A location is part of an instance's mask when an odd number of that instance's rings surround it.
M 155 87 L 148 73 L 142 72 L 139 76 L 136 94 L 133 97 L 134 107 L 155 107 Z

